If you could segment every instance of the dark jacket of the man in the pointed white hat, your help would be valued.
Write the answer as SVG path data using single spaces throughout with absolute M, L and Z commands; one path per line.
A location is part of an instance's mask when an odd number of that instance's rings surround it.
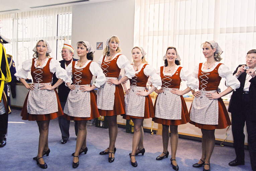
M 78 59 L 73 58 L 73 61 L 77 61 Z M 65 60 L 59 61 L 61 63 L 61 67 L 65 69 Z M 53 74 L 53 85 L 58 81 L 58 78 L 56 77 L 56 74 Z M 72 78 L 72 81 L 73 78 Z M 60 98 L 60 102 L 66 102 L 68 95 L 69 95 L 70 89 L 65 85 L 65 82 L 63 82 L 61 85 L 58 87 L 58 95 Z

